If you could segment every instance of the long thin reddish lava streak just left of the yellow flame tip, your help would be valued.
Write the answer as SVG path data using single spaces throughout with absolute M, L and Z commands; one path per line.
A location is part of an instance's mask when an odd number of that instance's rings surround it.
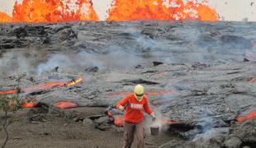
M 67 85 L 67 82 L 46 82 L 46 83 L 38 84 L 36 86 L 26 87 L 24 89 L 24 91 L 26 93 L 31 93 L 31 92 L 34 92 L 36 90 L 44 90 L 44 89 L 52 88 L 52 87 L 55 87 L 55 86 L 65 86 L 65 85 Z

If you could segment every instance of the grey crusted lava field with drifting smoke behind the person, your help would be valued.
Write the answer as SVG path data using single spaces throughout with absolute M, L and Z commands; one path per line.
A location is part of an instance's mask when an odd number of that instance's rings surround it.
M 256 82 L 250 81 L 256 78 L 256 23 L 17 23 L 1 24 L 0 39 L 2 90 L 17 86 L 21 74 L 21 91 L 82 76 L 75 86 L 21 97 L 48 106 L 68 100 L 107 108 L 142 84 L 158 117 L 183 122 L 168 130 L 185 142 L 162 147 L 256 145 L 255 119 L 237 122 L 256 109 Z

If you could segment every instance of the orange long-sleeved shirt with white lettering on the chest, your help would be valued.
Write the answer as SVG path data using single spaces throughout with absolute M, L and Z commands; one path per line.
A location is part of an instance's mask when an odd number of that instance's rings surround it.
M 135 98 L 135 94 L 130 93 L 116 104 L 116 108 L 118 109 L 120 105 L 126 106 L 124 121 L 129 123 L 140 123 L 140 121 L 144 119 L 144 110 L 146 113 L 152 113 L 152 109 L 150 109 L 149 100 L 146 95 L 143 95 L 143 99 L 139 102 Z

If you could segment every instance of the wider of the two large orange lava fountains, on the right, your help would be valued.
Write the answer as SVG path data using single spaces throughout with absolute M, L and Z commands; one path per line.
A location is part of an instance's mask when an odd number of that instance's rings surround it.
M 108 15 L 107 21 L 218 20 L 216 10 L 196 0 L 115 0 Z

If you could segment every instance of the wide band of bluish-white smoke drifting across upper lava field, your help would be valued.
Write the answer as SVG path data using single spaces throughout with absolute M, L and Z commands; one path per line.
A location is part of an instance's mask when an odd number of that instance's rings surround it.
M 151 22 L 151 25 L 158 26 L 159 22 Z M 151 66 L 153 61 L 159 62 L 205 62 L 217 59 L 239 58 L 245 56 L 250 60 L 254 59 L 255 45 L 250 48 L 249 39 L 235 38 L 226 35 L 218 40 L 218 36 L 206 40 L 206 30 L 197 25 L 181 25 L 180 27 L 170 27 L 163 25 L 161 30 L 170 32 L 167 39 L 159 40 L 158 36 L 151 30 L 145 30 L 143 25 L 138 23 L 125 22 L 125 35 L 121 38 L 129 37 L 130 44 L 110 44 L 105 53 L 89 52 L 87 49 L 81 49 L 78 53 L 36 53 L 32 52 L 8 52 L 1 58 L 1 73 L 4 75 L 18 74 L 26 72 L 27 74 L 40 75 L 43 72 L 51 72 L 55 67 L 59 67 L 59 72 L 65 72 L 71 69 L 76 72 L 83 72 L 87 67 L 98 67 L 100 71 L 111 70 L 115 68 L 130 68 L 138 64 Z M 198 25 L 200 25 L 198 23 Z M 212 29 L 211 29 L 212 30 Z M 213 35 L 219 35 L 214 32 Z M 164 34 L 165 35 L 165 34 Z M 241 40 L 239 49 L 234 49 L 233 39 Z M 205 39 L 206 38 L 206 39 Z M 79 36 L 83 40 L 83 35 Z M 230 41 L 230 43 L 220 42 L 221 39 Z M 120 40 L 121 41 L 121 40 Z M 246 41 L 246 42 L 245 42 Z M 253 44 L 253 42 L 252 42 Z M 211 46 L 210 46 L 211 45 Z M 243 50 L 247 49 L 246 51 Z M 95 47 L 93 47 L 95 49 Z M 232 49 L 232 52 L 230 50 Z M 102 50 L 102 49 L 95 49 Z M 29 54 L 29 56 L 26 56 Z

